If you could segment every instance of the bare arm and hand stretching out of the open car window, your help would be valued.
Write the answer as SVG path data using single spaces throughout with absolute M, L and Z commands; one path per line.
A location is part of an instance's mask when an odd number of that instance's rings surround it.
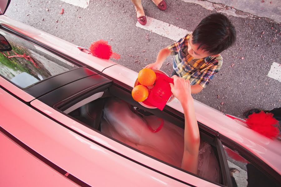
M 200 135 L 189 80 L 173 76 L 171 91 L 180 101 L 185 115 L 185 142 L 181 168 L 197 174 Z

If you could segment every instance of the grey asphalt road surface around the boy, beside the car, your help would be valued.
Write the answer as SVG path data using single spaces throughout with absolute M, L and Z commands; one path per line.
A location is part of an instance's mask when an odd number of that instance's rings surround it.
M 215 12 L 181 0 L 166 2 L 167 10 L 160 11 L 144 0 L 146 16 L 192 31 L 202 18 Z M 121 55 L 115 61 L 135 71 L 154 62 L 159 50 L 174 42 L 136 27 L 130 0 L 91 0 L 85 9 L 60 0 L 12 0 L 5 15 L 78 46 L 89 47 L 99 39 L 109 41 L 113 52 Z M 281 107 L 281 82 L 267 76 L 272 63 L 281 62 L 280 23 L 259 17 L 228 17 L 236 27 L 237 41 L 222 52 L 220 72 L 193 97 L 238 117 L 251 108 Z M 169 57 L 161 70 L 170 74 L 171 69 Z

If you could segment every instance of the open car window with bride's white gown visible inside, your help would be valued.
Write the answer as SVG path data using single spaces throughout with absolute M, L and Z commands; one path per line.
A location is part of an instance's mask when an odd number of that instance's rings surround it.
M 111 95 L 114 93 L 107 92 L 107 97 L 98 98 L 75 110 L 70 107 L 71 112 L 67 113 L 123 145 L 181 168 L 184 129 L 168 121 L 165 113 L 156 116 Z M 163 128 L 159 128 L 161 125 Z M 155 129 L 160 130 L 154 132 Z M 203 135 L 200 137 L 197 175 L 213 183 L 222 182 L 217 149 Z

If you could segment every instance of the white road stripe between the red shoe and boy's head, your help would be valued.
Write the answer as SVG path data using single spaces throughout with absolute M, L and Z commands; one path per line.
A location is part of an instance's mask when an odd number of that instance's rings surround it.
M 137 22 L 136 26 L 147 31 L 159 34 L 161 36 L 165 36 L 174 41 L 178 41 L 180 40 L 180 38 L 183 38 L 187 33 L 191 33 L 188 30 L 182 29 L 178 26 L 174 26 L 166 22 L 162 22 L 152 17 L 146 17 L 146 20 L 146 25 L 141 25 L 139 22 Z

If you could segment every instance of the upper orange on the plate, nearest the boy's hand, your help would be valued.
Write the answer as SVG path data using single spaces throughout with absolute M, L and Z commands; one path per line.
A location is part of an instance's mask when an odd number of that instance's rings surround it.
M 151 86 L 156 80 L 156 74 L 149 68 L 142 69 L 138 74 L 138 81 L 144 86 Z

